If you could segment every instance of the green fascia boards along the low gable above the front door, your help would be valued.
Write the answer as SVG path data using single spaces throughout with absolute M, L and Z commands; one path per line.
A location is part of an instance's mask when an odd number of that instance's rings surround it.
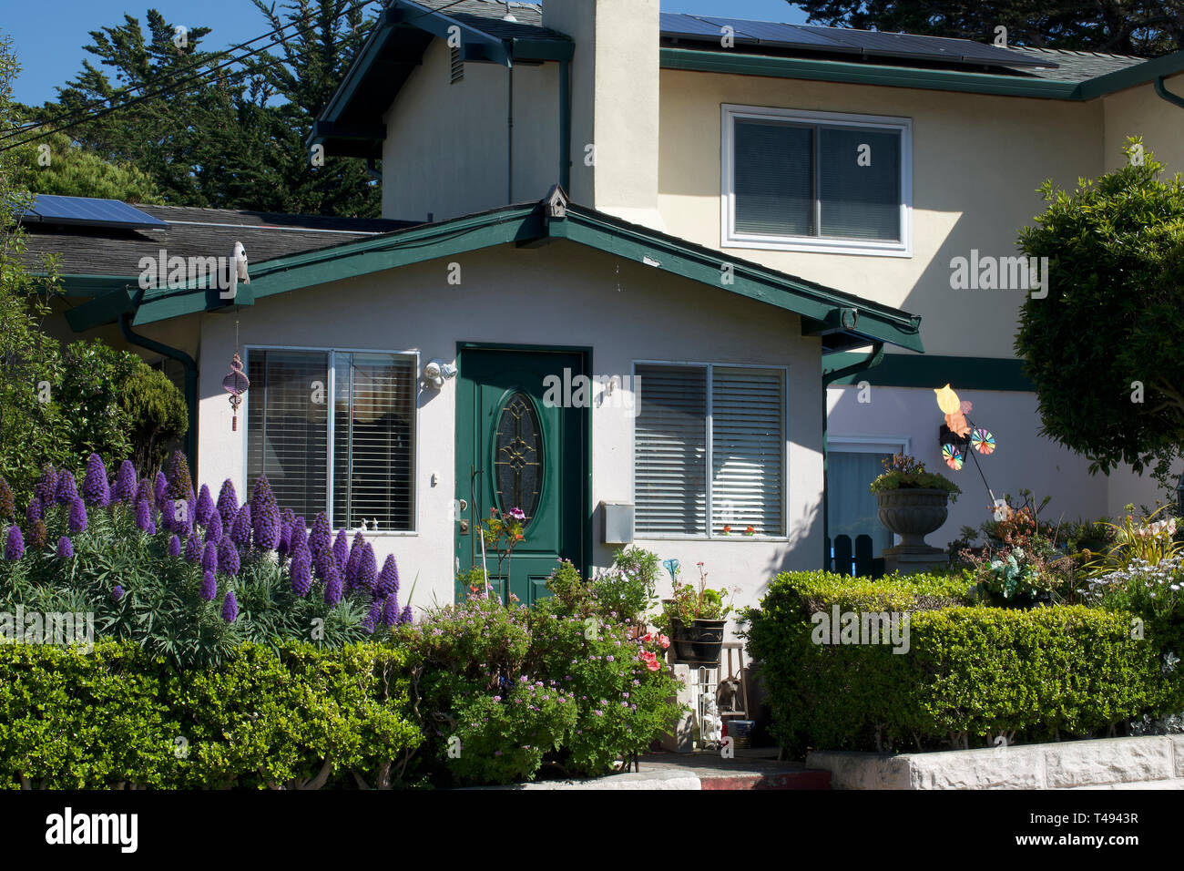
M 547 222 L 540 205 L 528 203 L 279 257 L 251 270 L 251 296 L 260 300 L 414 263 L 542 238 L 568 239 L 638 263 L 649 258 L 657 262 L 656 268 L 668 273 L 793 312 L 812 321 L 826 321 L 832 318 L 836 307 L 855 307 L 860 312 L 858 335 L 924 351 L 918 318 L 755 263 L 721 256 L 719 251 L 573 204 L 568 204 L 565 219 Z M 720 278 L 723 265 L 732 267 L 731 284 Z M 208 307 L 208 300 L 199 292 L 166 292 L 147 296 L 134 322 L 152 324 L 207 310 Z

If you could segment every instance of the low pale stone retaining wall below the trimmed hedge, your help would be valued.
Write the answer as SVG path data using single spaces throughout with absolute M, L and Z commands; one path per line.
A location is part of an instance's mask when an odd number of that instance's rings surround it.
M 1184 735 L 1064 741 L 985 750 L 816 751 L 832 789 L 1180 789 Z

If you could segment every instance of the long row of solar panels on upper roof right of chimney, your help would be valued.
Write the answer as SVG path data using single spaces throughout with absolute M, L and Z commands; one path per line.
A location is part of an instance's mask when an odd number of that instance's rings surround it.
M 816 52 L 856 53 L 870 57 L 896 57 L 935 60 L 948 64 L 995 66 L 1055 66 L 1045 58 L 984 45 L 970 39 L 922 37 L 910 33 L 883 33 L 844 27 L 749 21 L 742 18 L 708 18 L 663 13 L 663 36 L 716 38 L 722 27 L 735 31 L 736 41 L 802 49 Z

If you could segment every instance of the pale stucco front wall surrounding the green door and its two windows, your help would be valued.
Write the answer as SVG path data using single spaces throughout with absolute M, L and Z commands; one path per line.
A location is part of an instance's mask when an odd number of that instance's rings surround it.
M 741 589 L 753 603 L 780 569 L 812 569 L 822 552 L 822 399 L 818 341 L 800 338 L 796 315 L 688 282 L 572 243 L 525 251 L 510 246 L 466 255 L 459 287 L 435 261 L 262 299 L 239 313 L 239 348 L 249 345 L 418 350 L 422 363 L 452 360 L 457 341 L 586 346 L 597 374 L 632 373 L 633 361 L 693 360 L 789 367 L 787 514 L 785 540 L 639 540 L 675 557 L 695 576 L 702 561 L 713 583 Z M 220 386 L 234 351 L 234 318 L 201 322 L 198 475 L 245 486 L 244 424 L 231 431 Z M 397 555 L 414 604 L 452 597 L 456 383 L 422 390 L 418 411 L 418 531 L 374 536 L 380 561 Z M 250 403 L 250 393 L 247 395 Z M 592 409 L 592 504 L 632 499 L 632 423 L 624 409 Z M 432 475 L 438 482 L 431 485 Z M 599 512 L 593 542 L 601 538 Z M 596 545 L 591 563 L 611 549 Z

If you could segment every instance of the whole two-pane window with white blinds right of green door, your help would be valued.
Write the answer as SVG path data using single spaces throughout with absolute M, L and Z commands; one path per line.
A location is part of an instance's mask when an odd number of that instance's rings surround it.
M 637 536 L 785 534 L 783 372 L 644 364 L 637 376 Z

